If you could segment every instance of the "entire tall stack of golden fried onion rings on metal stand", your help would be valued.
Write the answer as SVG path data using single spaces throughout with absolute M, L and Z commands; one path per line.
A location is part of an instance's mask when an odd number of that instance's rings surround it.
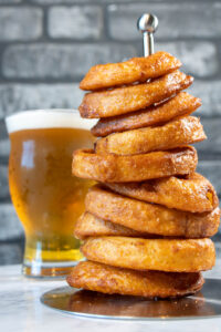
M 99 118 L 92 151 L 76 151 L 75 176 L 99 181 L 75 225 L 87 261 L 72 287 L 147 298 L 194 293 L 214 264 L 209 239 L 219 228 L 212 185 L 194 173 L 193 144 L 207 138 L 190 116 L 201 101 L 182 92 L 193 81 L 166 52 L 96 65 L 81 82 L 91 90 L 82 117 Z

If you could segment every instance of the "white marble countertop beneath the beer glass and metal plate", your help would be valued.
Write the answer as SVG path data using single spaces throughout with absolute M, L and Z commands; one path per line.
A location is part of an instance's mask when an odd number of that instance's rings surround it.
M 221 278 L 221 260 L 211 278 Z M 139 332 L 188 331 L 219 332 L 221 318 L 180 321 L 109 321 L 76 318 L 49 309 L 40 303 L 43 292 L 65 286 L 65 281 L 41 281 L 21 276 L 21 266 L 0 267 L 0 331 L 1 332 Z

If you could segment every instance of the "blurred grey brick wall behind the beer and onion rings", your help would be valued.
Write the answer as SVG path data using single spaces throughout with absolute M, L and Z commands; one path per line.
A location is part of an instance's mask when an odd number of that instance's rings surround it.
M 91 65 L 141 55 L 136 20 L 143 12 L 159 18 L 156 49 L 177 55 L 196 77 L 190 91 L 202 98 L 198 114 L 209 136 L 197 145 L 199 172 L 221 197 L 221 1 L 0 0 L 0 263 L 21 261 L 23 250 L 8 189 L 3 117 L 77 107 L 77 85 Z

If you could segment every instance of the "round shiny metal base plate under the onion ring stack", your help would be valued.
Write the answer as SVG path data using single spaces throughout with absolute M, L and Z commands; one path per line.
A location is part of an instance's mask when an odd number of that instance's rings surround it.
M 182 299 L 147 300 L 108 295 L 63 287 L 41 297 L 41 302 L 63 313 L 115 320 L 177 320 L 221 317 L 221 280 L 206 279 L 202 291 Z

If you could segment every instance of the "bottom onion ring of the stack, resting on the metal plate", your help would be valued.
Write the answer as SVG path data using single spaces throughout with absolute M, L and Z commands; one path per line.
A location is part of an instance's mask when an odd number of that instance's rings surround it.
M 67 277 L 71 287 L 92 291 L 147 298 L 173 298 L 200 290 L 201 273 L 134 271 L 97 262 L 80 262 Z

